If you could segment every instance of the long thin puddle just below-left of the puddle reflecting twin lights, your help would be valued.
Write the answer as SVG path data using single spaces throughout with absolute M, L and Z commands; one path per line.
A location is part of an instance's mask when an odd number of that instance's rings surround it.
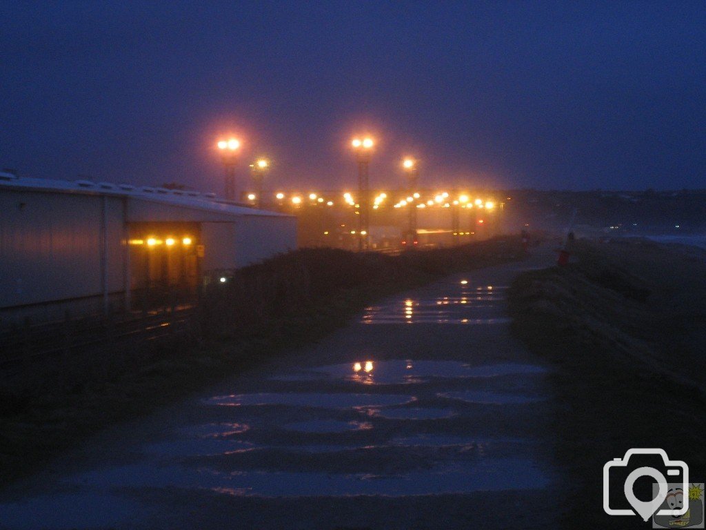
M 397 394 L 234 394 L 215 396 L 206 404 L 218 406 L 284 405 L 312 408 L 366 408 L 404 405 L 415 401 L 414 396 Z

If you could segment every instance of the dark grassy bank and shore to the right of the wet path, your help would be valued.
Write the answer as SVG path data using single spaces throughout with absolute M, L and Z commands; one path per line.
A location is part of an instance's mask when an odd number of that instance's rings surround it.
M 638 241 L 580 242 L 574 254 L 510 289 L 515 333 L 556 367 L 556 454 L 573 484 L 558 494 L 563 526 L 645 528 L 604 514 L 602 468 L 661 447 L 692 482 L 706 478 L 706 259 Z

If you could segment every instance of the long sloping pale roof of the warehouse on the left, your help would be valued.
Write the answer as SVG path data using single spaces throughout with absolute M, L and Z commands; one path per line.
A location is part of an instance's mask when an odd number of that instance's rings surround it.
M 68 194 L 88 194 L 128 197 L 138 202 L 149 202 L 167 206 L 223 214 L 225 216 L 268 216 L 289 217 L 285 213 L 258 210 L 218 198 L 213 193 L 199 193 L 181 189 L 133 186 L 131 184 L 112 184 L 110 182 L 92 182 L 90 180 L 50 180 L 32 177 L 18 177 L 0 171 L 0 189 L 16 189 L 33 192 L 56 192 Z

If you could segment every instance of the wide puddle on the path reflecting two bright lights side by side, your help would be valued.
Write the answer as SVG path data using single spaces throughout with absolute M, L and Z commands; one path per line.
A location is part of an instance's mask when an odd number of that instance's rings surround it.
M 383 360 L 356 361 L 349 364 L 313 367 L 303 372 L 275 376 L 280 381 L 316 381 L 345 379 L 361 384 L 414 384 L 438 378 L 501 377 L 546 372 L 537 365 L 503 363 L 469 366 L 453 360 Z

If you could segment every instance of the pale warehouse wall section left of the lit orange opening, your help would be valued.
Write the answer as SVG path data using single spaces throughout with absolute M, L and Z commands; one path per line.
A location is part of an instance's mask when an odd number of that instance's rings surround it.
M 123 200 L 0 189 L 0 308 L 124 289 Z

